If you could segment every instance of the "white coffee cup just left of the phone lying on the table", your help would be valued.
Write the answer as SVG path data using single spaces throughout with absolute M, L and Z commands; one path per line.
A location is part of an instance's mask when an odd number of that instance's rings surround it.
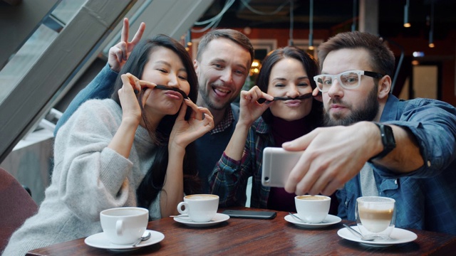
M 182 207 L 184 208 L 182 210 Z M 210 194 L 195 194 L 184 197 L 184 201 L 177 205 L 180 214 L 187 214 L 197 223 L 212 220 L 219 208 L 219 196 Z

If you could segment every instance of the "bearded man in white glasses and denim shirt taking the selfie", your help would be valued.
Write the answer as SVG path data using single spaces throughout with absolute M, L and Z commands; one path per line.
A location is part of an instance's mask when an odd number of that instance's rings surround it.
M 456 235 L 456 109 L 390 94 L 395 59 L 377 36 L 340 33 L 318 48 L 326 126 L 292 142 L 304 150 L 285 189 L 336 191 L 338 215 L 356 220 L 356 198 L 396 201 L 396 226 Z M 315 93 L 314 93 L 315 94 Z

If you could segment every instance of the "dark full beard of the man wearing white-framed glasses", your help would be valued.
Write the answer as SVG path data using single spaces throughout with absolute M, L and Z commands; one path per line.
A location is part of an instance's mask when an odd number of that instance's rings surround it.
M 323 111 L 323 124 L 326 127 L 332 127 L 336 125 L 348 126 L 356 122 L 361 121 L 372 121 L 378 113 L 378 100 L 377 100 L 377 86 L 369 92 L 368 97 L 364 104 L 358 108 L 358 110 L 353 110 L 351 114 L 348 114 L 346 117 L 333 116 L 331 117 L 326 108 Z M 333 99 L 333 103 L 342 103 L 341 100 Z

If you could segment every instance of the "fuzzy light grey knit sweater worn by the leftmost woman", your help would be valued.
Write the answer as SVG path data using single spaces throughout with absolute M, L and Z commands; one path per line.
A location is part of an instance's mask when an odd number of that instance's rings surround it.
M 12 235 L 3 255 L 102 232 L 100 211 L 136 206 L 140 185 L 154 156 L 147 130 L 138 127 L 129 159 L 108 149 L 120 126 L 122 109 L 113 100 L 89 100 L 58 131 L 51 185 L 38 213 Z M 160 194 L 150 206 L 161 218 Z

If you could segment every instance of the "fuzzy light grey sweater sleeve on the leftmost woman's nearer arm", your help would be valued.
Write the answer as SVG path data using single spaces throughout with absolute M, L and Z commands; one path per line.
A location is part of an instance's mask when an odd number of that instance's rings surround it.
M 58 197 L 83 219 L 98 220 L 100 210 L 136 203 L 132 161 L 107 147 L 122 117 L 120 106 L 108 101 L 81 105 L 56 137 L 53 183 L 59 184 Z

